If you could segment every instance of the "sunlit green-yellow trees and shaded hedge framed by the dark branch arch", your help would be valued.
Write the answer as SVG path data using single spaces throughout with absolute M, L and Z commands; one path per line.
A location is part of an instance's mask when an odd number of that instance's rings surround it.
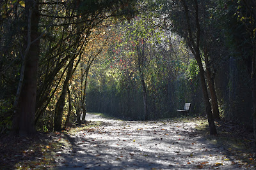
M 132 120 L 175 114 L 170 113 L 177 109 L 172 84 L 189 65 L 188 50 L 177 36 L 154 25 L 152 15 L 141 13 L 113 28 L 116 42 L 90 74 L 89 111 Z

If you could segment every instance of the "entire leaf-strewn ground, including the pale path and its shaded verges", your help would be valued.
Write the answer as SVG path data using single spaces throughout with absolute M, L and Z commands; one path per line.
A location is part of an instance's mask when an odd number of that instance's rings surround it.
M 87 114 L 86 124 L 36 138 L 0 139 L 0 169 L 255 169 L 252 132 L 204 118 L 122 121 Z

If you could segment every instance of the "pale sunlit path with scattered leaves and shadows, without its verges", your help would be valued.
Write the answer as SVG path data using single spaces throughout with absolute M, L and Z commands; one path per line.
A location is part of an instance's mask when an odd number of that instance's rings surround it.
M 104 122 L 74 135 L 56 155 L 57 169 L 243 169 L 227 148 L 196 132 L 193 122 L 121 121 L 86 115 Z

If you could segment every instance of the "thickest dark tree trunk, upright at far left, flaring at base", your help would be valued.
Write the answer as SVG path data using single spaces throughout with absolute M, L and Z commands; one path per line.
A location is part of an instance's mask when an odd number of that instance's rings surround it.
M 38 38 L 38 4 L 36 1 L 26 0 L 26 20 L 28 20 L 27 45 L 30 47 L 24 60 L 24 78 L 20 90 L 20 97 L 17 100 L 17 110 L 13 117 L 12 131 L 19 136 L 33 135 L 35 131 L 35 106 L 36 106 L 36 73 L 38 68 L 38 56 L 40 41 Z M 32 12 L 32 15 L 29 13 Z M 31 18 L 29 18 L 29 16 Z M 31 24 L 31 25 L 30 25 Z M 31 43 L 32 42 L 32 43 Z M 31 43 L 31 44 L 30 44 Z

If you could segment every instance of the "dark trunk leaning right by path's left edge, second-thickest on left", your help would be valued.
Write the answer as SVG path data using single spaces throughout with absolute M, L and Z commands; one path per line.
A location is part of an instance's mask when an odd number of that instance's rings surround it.
M 70 60 L 70 63 L 69 63 L 70 65 L 68 66 L 68 72 L 63 84 L 61 96 L 58 99 L 58 102 L 56 104 L 55 114 L 54 114 L 54 131 L 62 130 L 61 125 L 62 125 L 62 117 L 63 117 L 63 108 L 65 106 L 65 98 L 66 98 L 68 84 L 69 84 L 68 81 L 72 76 L 73 63 L 74 63 L 74 59 Z

